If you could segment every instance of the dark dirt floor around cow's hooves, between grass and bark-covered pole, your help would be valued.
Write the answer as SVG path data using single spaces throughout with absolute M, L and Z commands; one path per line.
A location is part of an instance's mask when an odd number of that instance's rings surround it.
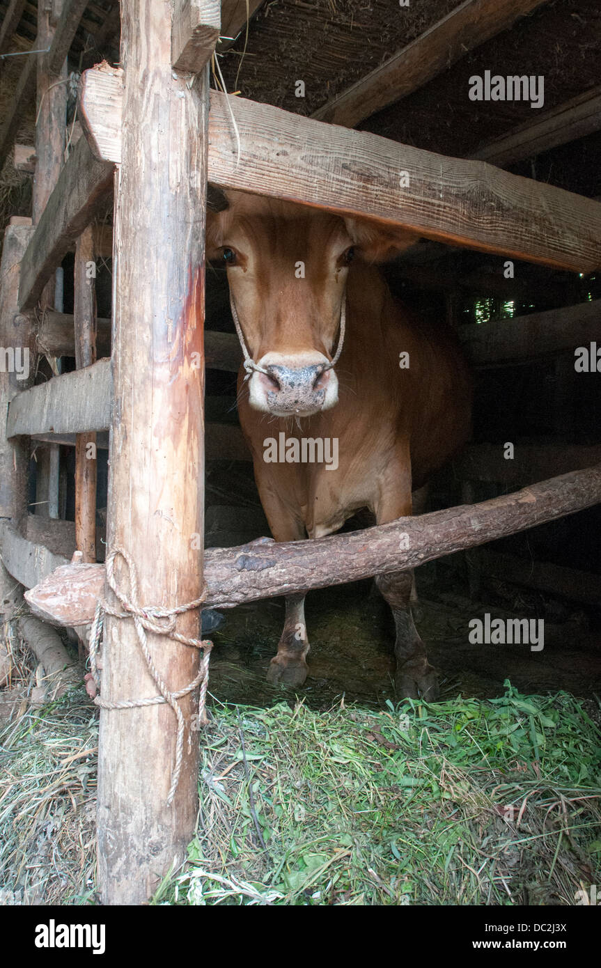
M 425 565 L 417 575 L 416 625 L 438 670 L 441 697 L 461 693 L 493 698 L 503 694 L 503 682 L 509 679 L 526 693 L 564 689 L 598 710 L 598 618 L 580 606 L 544 601 L 540 595 L 501 583 L 483 587 L 482 600 L 473 601 L 463 570 L 463 558 L 455 556 Z M 544 618 L 544 649 L 472 645 L 468 621 L 482 619 L 486 612 L 502 619 Z M 306 617 L 312 646 L 309 677 L 296 691 L 309 706 L 324 709 L 343 696 L 345 702 L 372 707 L 394 701 L 394 626 L 372 582 L 311 592 Z M 210 692 L 215 700 L 269 705 L 282 695 L 281 689 L 265 681 L 265 672 L 283 622 L 283 599 L 225 612 L 225 623 L 213 637 Z

